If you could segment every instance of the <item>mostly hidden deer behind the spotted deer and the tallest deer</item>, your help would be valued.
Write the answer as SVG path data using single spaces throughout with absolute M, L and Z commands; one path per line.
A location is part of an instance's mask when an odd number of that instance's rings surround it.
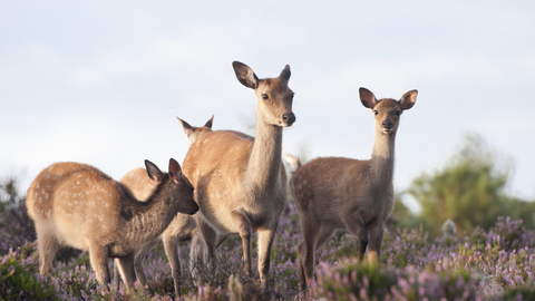
M 176 118 L 181 123 L 184 133 L 187 136 L 188 147 L 202 135 L 212 132 L 212 124 L 214 120 L 213 115 L 204 126 L 200 127 L 191 126 L 187 122 L 178 117 Z M 157 187 L 157 183 L 150 179 L 150 177 L 147 175 L 147 172 L 143 167 L 138 167 L 128 172 L 119 182 L 125 185 L 137 200 L 143 202 L 145 202 Z M 178 258 L 177 244 L 193 241 L 192 252 L 189 254 L 191 258 L 193 259 L 201 255 L 197 254 L 200 252 L 198 250 L 202 250 L 202 246 L 198 247 L 201 242 L 198 241 L 197 223 L 195 222 L 195 219 L 189 214 L 178 212 L 162 235 L 158 235 L 152 242 L 136 250 L 134 255 L 134 270 L 139 283 L 145 288 L 148 288 L 148 281 L 143 268 L 143 259 L 160 240 L 164 242 L 165 254 L 169 261 L 175 287 L 175 295 L 179 295 L 181 261 Z M 119 271 L 117 262 L 114 265 L 114 285 L 117 289 L 119 287 Z

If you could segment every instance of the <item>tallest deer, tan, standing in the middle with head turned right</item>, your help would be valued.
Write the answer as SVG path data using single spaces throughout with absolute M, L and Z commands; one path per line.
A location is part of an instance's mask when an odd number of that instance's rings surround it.
M 259 79 L 251 68 L 234 61 L 237 80 L 254 90 L 256 137 L 233 130 L 214 130 L 192 144 L 184 174 L 195 187 L 201 207 L 197 225 L 207 246 L 208 265 L 215 247 L 228 235 L 242 239 L 245 272 L 251 274 L 251 234 L 257 232 L 259 272 L 265 283 L 279 216 L 286 203 L 282 165 L 282 128 L 295 122 L 293 91 L 288 87 L 290 66 L 278 78 Z

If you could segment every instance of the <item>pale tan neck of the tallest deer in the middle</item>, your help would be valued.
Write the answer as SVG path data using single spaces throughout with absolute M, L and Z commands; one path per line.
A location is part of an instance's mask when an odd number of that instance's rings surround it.
M 276 184 L 282 156 L 282 127 L 259 120 L 256 137 L 244 174 L 250 190 L 262 193 Z

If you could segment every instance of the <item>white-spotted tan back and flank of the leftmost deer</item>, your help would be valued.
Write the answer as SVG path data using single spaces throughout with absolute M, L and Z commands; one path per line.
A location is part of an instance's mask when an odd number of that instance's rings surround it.
M 120 200 L 133 197 L 97 168 L 56 163 L 43 169 L 28 190 L 28 213 L 36 226 L 47 224 L 69 244 L 86 249 L 84 237 L 113 240 L 119 225 Z

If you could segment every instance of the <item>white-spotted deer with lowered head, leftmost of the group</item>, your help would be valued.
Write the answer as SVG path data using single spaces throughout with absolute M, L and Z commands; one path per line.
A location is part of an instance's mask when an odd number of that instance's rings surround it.
M 177 212 L 195 214 L 193 185 L 169 159 L 168 173 L 145 161 L 155 190 L 140 202 L 119 182 L 81 163 L 55 163 L 30 184 L 29 216 L 37 232 L 40 274 L 50 274 L 62 246 L 89 252 L 98 282 L 108 290 L 108 258 L 116 258 L 128 289 L 134 288 L 135 251 L 159 236 Z

